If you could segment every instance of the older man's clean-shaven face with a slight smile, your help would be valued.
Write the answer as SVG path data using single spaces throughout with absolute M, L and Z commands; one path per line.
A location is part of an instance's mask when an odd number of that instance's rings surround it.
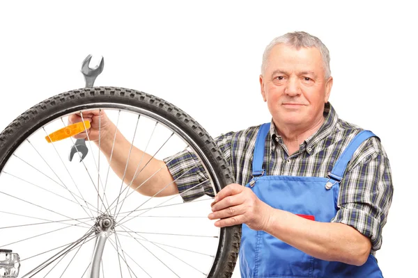
M 322 121 L 332 77 L 325 80 L 318 49 L 296 50 L 277 44 L 270 51 L 260 83 L 261 95 L 279 129 L 310 129 Z

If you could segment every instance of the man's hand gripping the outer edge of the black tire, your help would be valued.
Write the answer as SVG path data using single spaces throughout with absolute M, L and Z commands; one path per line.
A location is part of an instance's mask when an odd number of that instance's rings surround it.
M 258 199 L 251 189 L 237 183 L 219 191 L 211 206 L 212 213 L 208 218 L 220 219 L 215 222 L 216 227 L 245 223 L 251 229 L 260 231 L 267 227 L 270 220 L 271 207 Z

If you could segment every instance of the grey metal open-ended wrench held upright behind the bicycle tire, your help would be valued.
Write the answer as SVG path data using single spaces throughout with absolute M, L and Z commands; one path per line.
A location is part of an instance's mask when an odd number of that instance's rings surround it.
M 102 73 L 103 67 L 104 67 L 103 57 L 100 60 L 100 64 L 93 68 L 88 66 L 90 64 L 90 60 L 91 60 L 91 55 L 89 54 L 82 63 L 82 74 L 84 75 L 84 80 L 86 81 L 86 88 L 93 88 L 93 84 L 94 84 L 96 77 L 98 77 L 98 75 Z M 88 148 L 86 146 L 85 139 L 77 139 L 75 141 L 75 144 L 72 146 L 70 150 L 70 155 L 68 156 L 68 159 L 72 161 L 72 157 L 77 152 L 82 153 L 82 157 L 80 158 L 80 162 L 82 162 L 88 153 Z

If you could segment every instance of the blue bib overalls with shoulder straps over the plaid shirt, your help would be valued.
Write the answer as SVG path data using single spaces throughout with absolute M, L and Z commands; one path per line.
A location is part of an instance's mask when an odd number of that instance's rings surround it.
M 323 177 L 265 176 L 263 170 L 265 138 L 270 123 L 258 131 L 252 165 L 253 179 L 246 185 L 261 201 L 273 208 L 319 222 L 330 222 L 336 215 L 339 182 L 355 150 L 371 131 L 360 132 L 336 161 L 329 179 Z M 255 181 L 255 182 L 254 182 Z M 314 218 L 314 219 L 313 219 Z M 266 277 L 382 277 L 374 256 L 362 266 L 323 261 L 297 250 L 265 231 L 254 231 L 242 224 L 240 271 L 243 278 Z

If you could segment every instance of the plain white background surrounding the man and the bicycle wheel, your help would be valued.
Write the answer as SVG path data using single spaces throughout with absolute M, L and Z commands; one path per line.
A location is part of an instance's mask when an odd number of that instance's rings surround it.
M 307 31 L 330 49 L 337 113 L 371 129 L 387 151 L 395 191 L 377 257 L 385 277 L 410 277 L 418 247 L 416 8 L 333 2 L 3 1 L 0 129 L 43 99 L 84 87 L 88 54 L 105 60 L 95 85 L 166 99 L 214 137 L 268 122 L 258 84 L 263 50 L 278 35 Z

